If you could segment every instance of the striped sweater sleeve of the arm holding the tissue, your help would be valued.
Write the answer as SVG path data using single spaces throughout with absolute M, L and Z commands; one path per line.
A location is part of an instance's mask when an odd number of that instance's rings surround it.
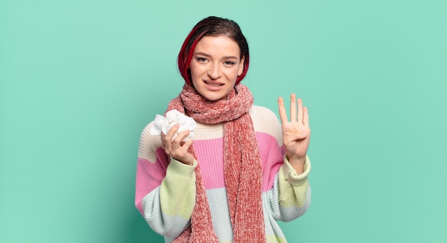
M 158 234 L 175 238 L 189 226 L 196 202 L 197 165 L 170 158 L 158 136 L 144 128 L 139 143 L 136 171 L 136 208 Z

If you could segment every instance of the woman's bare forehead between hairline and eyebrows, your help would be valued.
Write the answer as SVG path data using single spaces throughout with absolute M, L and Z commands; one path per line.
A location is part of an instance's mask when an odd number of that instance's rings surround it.
M 239 56 L 238 43 L 227 36 L 204 36 L 197 43 L 194 53 L 204 52 L 209 55 Z

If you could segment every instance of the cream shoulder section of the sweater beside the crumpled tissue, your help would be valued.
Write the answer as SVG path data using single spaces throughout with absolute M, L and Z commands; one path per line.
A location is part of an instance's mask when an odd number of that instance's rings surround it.
M 161 148 L 161 140 L 157 135 L 151 135 L 151 128 L 154 126 L 154 121 L 151 121 L 141 132 L 138 156 L 155 162 L 156 150 Z

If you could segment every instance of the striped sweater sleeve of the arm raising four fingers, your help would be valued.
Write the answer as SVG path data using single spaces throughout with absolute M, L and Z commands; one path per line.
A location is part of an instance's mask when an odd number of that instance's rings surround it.
M 311 203 L 308 174 L 311 161 L 306 157 L 304 171 L 297 175 L 283 150 L 281 123 L 267 108 L 252 109 L 258 148 L 263 163 L 263 191 L 268 200 L 268 213 L 275 220 L 291 221 L 303 215 Z

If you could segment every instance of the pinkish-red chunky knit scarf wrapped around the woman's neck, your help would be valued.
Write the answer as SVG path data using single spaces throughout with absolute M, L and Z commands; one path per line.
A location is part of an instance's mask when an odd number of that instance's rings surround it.
M 261 155 L 253 121 L 248 113 L 251 105 L 253 95 L 241 83 L 236 84 L 228 100 L 216 101 L 207 100 L 193 86 L 185 84 L 183 91 L 171 100 L 167 109 L 179 110 L 200 123 L 224 123 L 224 176 L 235 243 L 266 242 L 261 198 Z M 200 165 L 194 143 L 189 152 Z M 174 242 L 219 242 L 213 229 L 199 165 L 195 170 L 196 205 L 191 215 L 191 226 Z

